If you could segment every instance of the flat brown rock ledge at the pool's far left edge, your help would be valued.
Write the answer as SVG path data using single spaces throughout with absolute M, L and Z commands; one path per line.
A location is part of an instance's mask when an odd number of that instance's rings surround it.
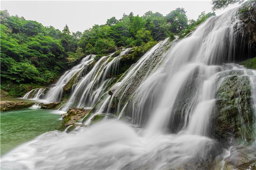
M 10 111 L 15 109 L 22 109 L 31 107 L 35 103 L 23 102 L 23 101 L 0 101 L 0 111 Z

